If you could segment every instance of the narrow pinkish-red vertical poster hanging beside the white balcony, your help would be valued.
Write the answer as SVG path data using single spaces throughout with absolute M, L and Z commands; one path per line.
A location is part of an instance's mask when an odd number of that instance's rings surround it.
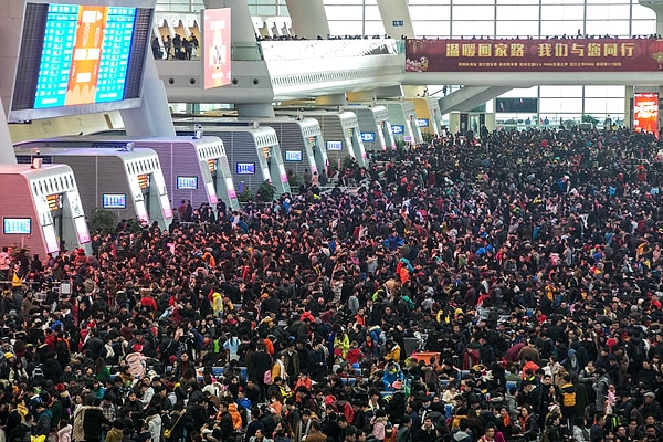
M 230 84 L 230 8 L 202 12 L 203 82 L 206 90 Z

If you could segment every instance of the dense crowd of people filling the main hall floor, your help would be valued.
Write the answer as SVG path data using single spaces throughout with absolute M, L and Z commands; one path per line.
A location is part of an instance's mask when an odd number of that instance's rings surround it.
M 659 149 L 445 135 L 204 229 L 4 248 L 4 440 L 663 440 Z

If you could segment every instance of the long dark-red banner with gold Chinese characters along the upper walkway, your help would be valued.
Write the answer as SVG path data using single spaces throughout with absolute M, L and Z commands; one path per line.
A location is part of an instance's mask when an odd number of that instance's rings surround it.
M 663 40 L 408 40 L 407 72 L 643 72 L 663 70 Z

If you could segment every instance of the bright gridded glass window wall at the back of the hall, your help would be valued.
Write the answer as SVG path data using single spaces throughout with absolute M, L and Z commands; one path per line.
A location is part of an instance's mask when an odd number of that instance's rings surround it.
M 246 0 L 253 15 L 287 15 L 285 0 Z M 377 0 L 323 0 L 333 35 L 385 34 Z M 515 38 L 651 35 L 653 10 L 638 0 L 409 0 L 418 38 Z M 161 11 L 199 11 L 202 0 L 158 0 Z M 442 85 L 429 90 L 441 91 Z M 448 85 L 448 91 L 457 88 Z M 538 98 L 537 115 L 497 113 L 497 122 L 559 123 L 591 115 L 619 120 L 624 115 L 623 86 L 535 86 L 503 97 Z M 487 110 L 493 106 L 488 104 Z

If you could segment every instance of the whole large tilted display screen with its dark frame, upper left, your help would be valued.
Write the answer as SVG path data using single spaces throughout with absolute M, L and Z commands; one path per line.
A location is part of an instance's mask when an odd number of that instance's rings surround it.
M 151 17 L 129 6 L 27 3 L 9 119 L 138 106 Z

